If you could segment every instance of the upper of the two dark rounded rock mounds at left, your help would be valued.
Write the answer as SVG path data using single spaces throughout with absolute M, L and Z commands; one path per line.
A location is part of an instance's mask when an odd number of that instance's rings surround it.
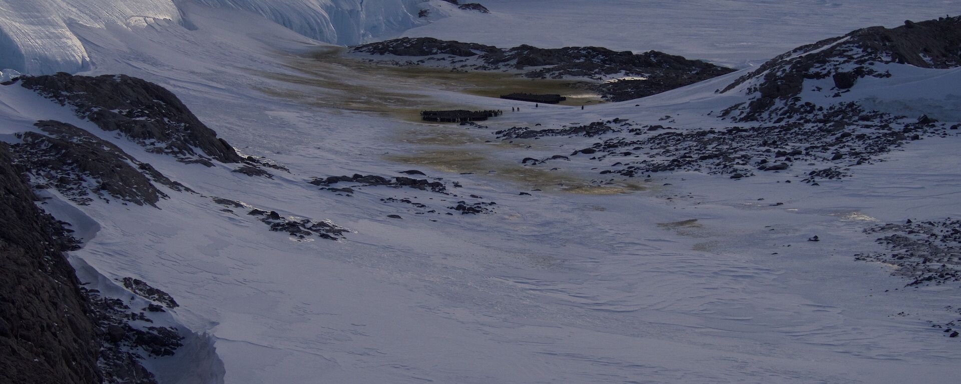
M 212 166 L 210 159 L 238 162 L 240 156 L 217 138 L 173 93 L 125 75 L 56 75 L 18 78 L 40 95 L 70 106 L 104 131 L 121 132 L 148 151 L 185 163 Z M 199 149 L 203 154 L 198 154 Z

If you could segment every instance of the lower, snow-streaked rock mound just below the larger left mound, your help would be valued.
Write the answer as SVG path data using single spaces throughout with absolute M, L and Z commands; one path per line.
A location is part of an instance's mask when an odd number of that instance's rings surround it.
M 108 202 L 113 198 L 157 206 L 167 195 L 153 182 L 189 191 L 150 164 L 83 129 L 52 120 L 37 122 L 36 126 L 46 134 L 24 132 L 22 143 L 12 145 L 12 151 L 36 182 L 56 188 L 74 203 L 88 204 L 92 194 Z

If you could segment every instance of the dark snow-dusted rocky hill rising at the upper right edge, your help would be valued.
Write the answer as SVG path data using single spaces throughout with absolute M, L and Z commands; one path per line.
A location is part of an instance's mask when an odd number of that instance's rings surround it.
M 831 78 L 833 89 L 844 92 L 858 79 L 890 77 L 878 67 L 882 63 L 908 64 L 923 68 L 961 66 L 961 16 L 918 23 L 905 21 L 893 29 L 871 27 L 804 45 L 769 60 L 757 70 L 728 84 L 722 92 L 747 85 L 752 100 L 735 109 L 738 121 L 791 118 L 803 113 L 798 108 L 805 80 Z M 840 95 L 840 93 L 835 93 Z

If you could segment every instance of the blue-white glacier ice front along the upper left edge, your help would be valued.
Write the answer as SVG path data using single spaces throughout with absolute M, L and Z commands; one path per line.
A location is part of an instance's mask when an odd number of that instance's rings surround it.
M 254 12 L 298 34 L 344 45 L 397 35 L 458 11 L 439 0 L 0 0 L 0 69 L 33 75 L 89 69 L 74 26 L 183 23 L 188 3 Z

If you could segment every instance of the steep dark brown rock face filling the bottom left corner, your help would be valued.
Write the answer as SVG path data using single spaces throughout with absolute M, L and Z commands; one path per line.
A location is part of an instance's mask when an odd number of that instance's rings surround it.
M 99 384 L 98 328 L 62 253 L 73 245 L 12 162 L 0 143 L 0 382 Z

